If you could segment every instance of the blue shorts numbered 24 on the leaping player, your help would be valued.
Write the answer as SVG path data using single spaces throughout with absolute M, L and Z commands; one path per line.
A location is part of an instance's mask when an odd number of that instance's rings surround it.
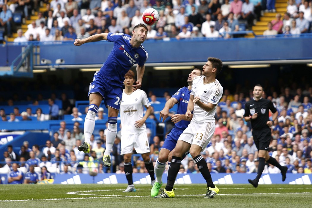
M 114 80 L 109 80 L 101 74 L 95 72 L 90 83 L 89 93 L 100 93 L 103 97 L 105 106 L 110 106 L 117 110 L 120 109 L 122 99 L 122 85 Z

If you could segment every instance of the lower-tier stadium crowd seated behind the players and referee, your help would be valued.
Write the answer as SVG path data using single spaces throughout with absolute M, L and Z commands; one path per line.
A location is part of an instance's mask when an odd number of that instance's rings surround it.
M 163 98 L 157 98 L 150 91 L 149 97 L 152 105 L 164 105 L 170 95 L 165 92 Z M 307 85 L 305 89 L 301 89 L 294 85 L 292 88 L 281 88 L 279 94 L 272 90 L 264 94 L 264 98 L 272 100 L 279 112 L 279 116 L 271 128 L 273 140 L 269 147 L 270 155 L 281 165 L 287 166 L 288 173 L 312 173 L 312 87 Z M 252 90 L 247 96 L 244 93 L 230 94 L 228 89 L 224 90 L 215 114 L 217 125 L 214 136 L 202 152 L 211 172 L 257 172 L 258 151 L 253 143 L 250 123 L 243 119 L 244 105 L 250 99 L 252 99 Z M 99 111 L 102 112 L 103 109 Z M 85 113 L 78 112 L 76 108 L 69 109 L 69 113 L 71 112 L 77 115 Z M 3 110 L 0 113 L 2 118 L 6 116 Z M 150 115 L 150 119 L 154 119 L 160 124 L 157 127 L 157 134 L 151 135 L 151 131 L 148 130 L 148 136 L 153 137 L 153 143 L 150 144 L 150 157 L 153 162 L 156 161 L 163 140 L 166 139 L 167 134 L 163 132 L 170 132 L 173 127 L 173 123 L 167 119 L 165 129 L 160 128 L 163 125 L 158 121 L 158 113 L 158 111 L 153 111 Z M 101 117 L 101 115 L 98 116 Z M 101 129 L 98 135 L 92 135 L 90 154 L 85 154 L 78 151 L 78 146 L 84 142 L 83 130 L 79 128 L 80 121 L 76 120 L 74 126 L 70 127 L 66 125 L 65 121 L 60 121 L 60 128 L 58 131 L 52 132 L 53 136 L 46 141 L 44 147 L 38 145 L 29 147 L 29 143 L 24 141 L 20 151 L 14 152 L 14 148 L 9 145 L 7 151 L 3 153 L 5 159 L 1 164 L 2 167 L 10 168 L 10 174 L 14 172 L 16 174 L 17 167 L 25 167 L 24 172 L 30 172 L 28 175 L 33 174 L 33 170 L 36 170 L 38 180 L 51 177 L 48 170 L 60 174 L 89 173 L 94 169 L 100 173 L 111 171 L 124 173 L 123 157 L 120 156 L 121 131 L 117 133 L 111 152 L 112 169 L 107 169 L 103 168 L 101 162 L 105 150 L 106 129 Z M 120 126 L 120 128 L 122 127 Z M 14 164 L 15 161 L 17 164 Z M 135 164 L 134 173 L 147 172 L 142 158 L 134 157 L 133 162 Z M 180 173 L 196 172 L 199 171 L 194 165 L 192 157 L 185 157 Z M 279 173 L 280 170 L 268 165 L 264 172 Z

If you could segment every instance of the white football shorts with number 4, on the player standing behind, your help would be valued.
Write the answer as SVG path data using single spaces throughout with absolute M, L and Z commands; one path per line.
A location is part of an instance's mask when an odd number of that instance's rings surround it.
M 138 154 L 149 152 L 147 131 L 137 134 L 121 135 L 120 155 L 132 153 L 133 148 Z

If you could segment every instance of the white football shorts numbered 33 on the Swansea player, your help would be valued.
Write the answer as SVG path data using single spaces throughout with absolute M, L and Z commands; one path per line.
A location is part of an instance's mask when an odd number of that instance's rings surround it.
M 191 121 L 178 140 L 182 140 L 190 144 L 196 144 L 204 150 L 213 136 L 215 125 L 215 122 L 196 123 Z

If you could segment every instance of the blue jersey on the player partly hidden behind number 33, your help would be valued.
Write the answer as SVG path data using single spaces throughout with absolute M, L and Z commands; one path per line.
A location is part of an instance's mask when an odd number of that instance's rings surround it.
M 187 87 L 182 87 L 176 92 L 174 95 L 172 95 L 173 98 L 178 100 L 178 110 L 177 114 L 184 115 L 186 113 L 186 110 L 188 109 L 188 101 L 190 99 L 191 90 L 188 90 Z M 190 124 L 190 121 L 179 121 L 175 124 L 175 127 L 186 129 L 188 127 L 188 124 Z

